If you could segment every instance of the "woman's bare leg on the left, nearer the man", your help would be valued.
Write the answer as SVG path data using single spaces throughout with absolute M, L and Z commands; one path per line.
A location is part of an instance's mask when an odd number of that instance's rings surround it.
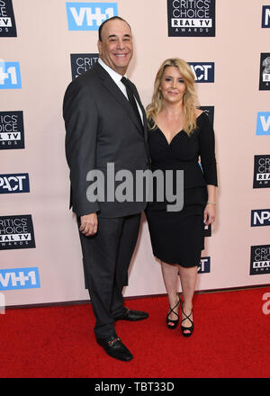
M 166 287 L 166 293 L 168 295 L 169 306 L 173 308 L 175 307 L 177 302 L 179 302 L 179 298 L 177 295 L 179 266 L 176 264 L 167 264 L 161 261 L 161 269 L 164 284 Z M 176 307 L 174 311 L 178 312 L 178 307 Z M 168 319 L 177 320 L 178 318 L 174 312 L 171 312 Z

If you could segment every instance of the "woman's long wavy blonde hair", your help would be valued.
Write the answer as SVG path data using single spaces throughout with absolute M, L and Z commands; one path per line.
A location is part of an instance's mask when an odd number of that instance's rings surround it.
M 150 129 L 157 127 L 157 114 L 160 112 L 163 103 L 163 97 L 159 89 L 161 79 L 166 67 L 177 67 L 181 76 L 184 79 L 185 93 L 183 98 L 184 110 L 184 128 L 183 130 L 190 135 L 196 129 L 196 102 L 197 97 L 194 90 L 194 75 L 191 67 L 180 58 L 168 58 L 157 71 L 157 76 L 154 83 L 154 93 L 152 102 L 148 104 L 146 112 L 148 118 L 148 126 Z

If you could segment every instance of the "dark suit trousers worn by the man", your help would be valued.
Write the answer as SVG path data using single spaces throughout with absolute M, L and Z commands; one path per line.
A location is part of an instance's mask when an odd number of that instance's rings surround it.
M 122 288 L 128 284 L 128 269 L 139 235 L 140 213 L 117 218 L 98 217 L 93 237 L 79 231 L 94 316 L 94 333 L 107 338 L 114 330 L 115 318 L 124 311 Z M 78 220 L 78 225 L 79 225 Z

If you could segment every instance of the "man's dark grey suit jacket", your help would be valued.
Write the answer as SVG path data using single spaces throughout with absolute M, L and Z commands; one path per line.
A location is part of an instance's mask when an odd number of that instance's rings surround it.
M 70 206 L 77 216 L 98 212 L 101 217 L 119 217 L 139 213 L 146 207 L 145 201 L 108 202 L 107 199 L 108 163 L 113 163 L 115 173 L 129 170 L 134 180 L 136 170 L 148 169 L 150 165 L 146 115 L 135 85 L 132 87 L 143 113 L 144 128 L 127 98 L 98 63 L 67 86 L 63 103 L 66 156 L 70 169 Z M 94 169 L 104 175 L 104 202 L 101 198 L 89 202 L 86 197 L 91 184 L 86 175 Z M 114 181 L 115 189 L 121 183 Z

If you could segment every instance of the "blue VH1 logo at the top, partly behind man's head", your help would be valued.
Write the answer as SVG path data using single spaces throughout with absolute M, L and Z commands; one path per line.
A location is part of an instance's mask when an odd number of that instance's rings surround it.
M 69 31 L 97 31 L 99 26 L 117 15 L 117 3 L 66 3 Z

